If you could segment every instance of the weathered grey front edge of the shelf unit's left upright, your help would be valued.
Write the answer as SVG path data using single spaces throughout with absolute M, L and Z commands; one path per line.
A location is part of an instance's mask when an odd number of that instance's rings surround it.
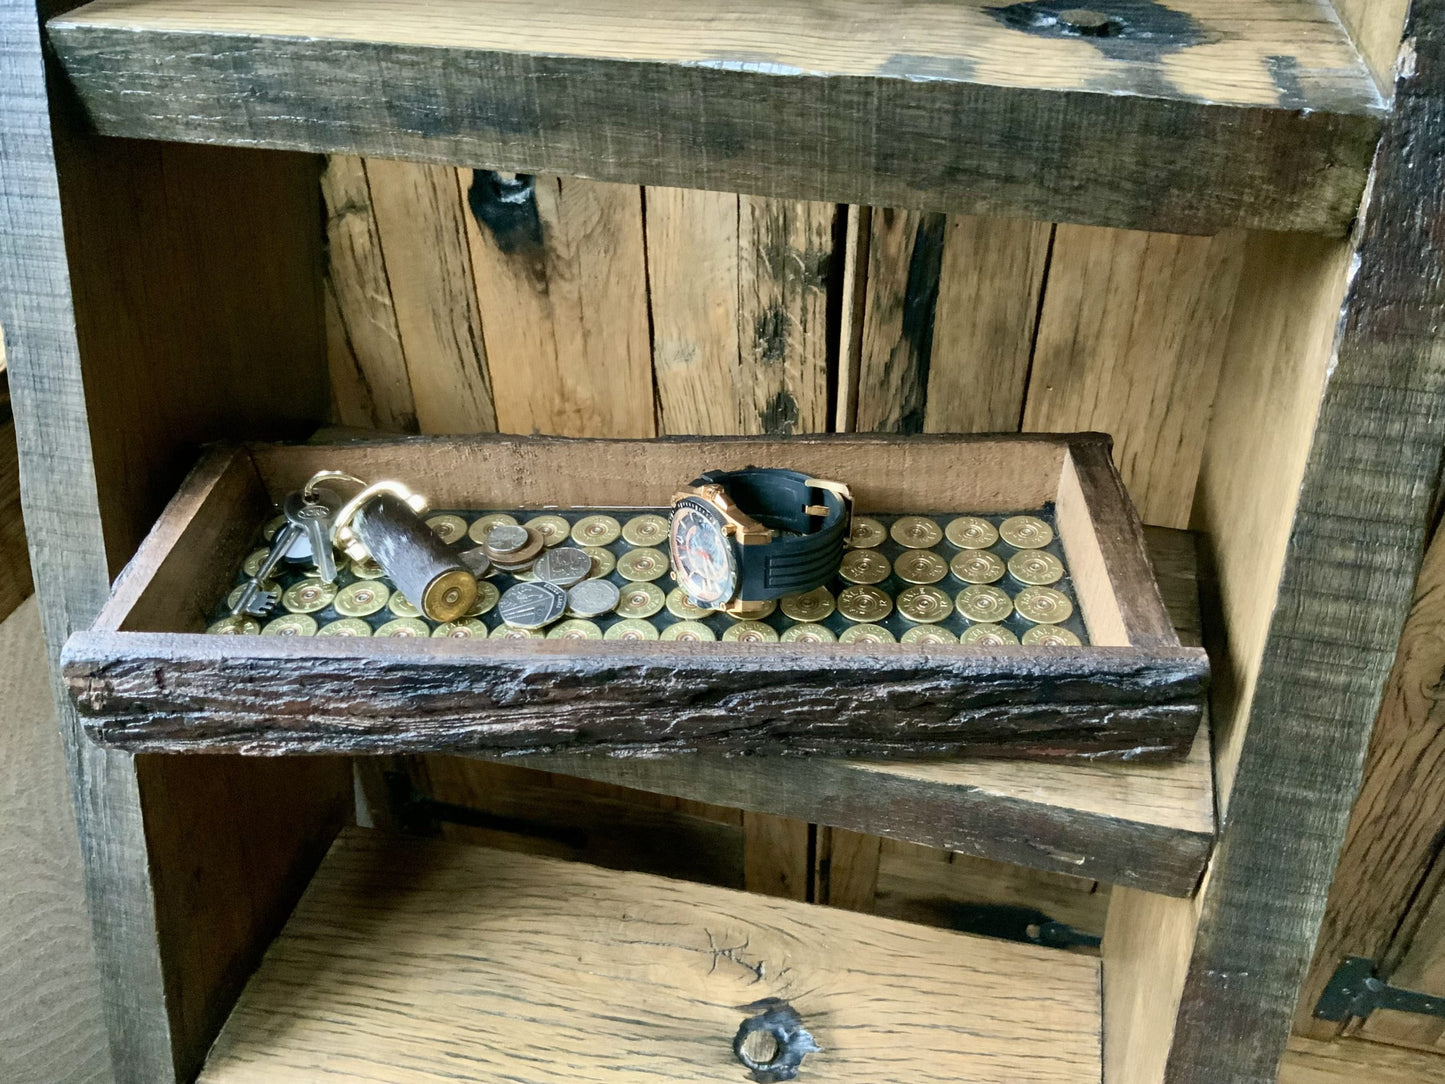
M 22 503 L 52 675 L 61 645 L 110 590 L 51 145 L 36 9 L 0 3 L 0 327 L 20 449 Z M 131 759 L 88 743 L 56 689 L 78 815 L 101 1006 L 120 1081 L 173 1074 L 144 828 Z

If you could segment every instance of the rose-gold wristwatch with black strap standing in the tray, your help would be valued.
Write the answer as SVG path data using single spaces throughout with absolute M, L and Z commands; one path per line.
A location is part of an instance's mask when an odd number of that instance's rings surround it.
M 694 606 L 757 616 L 838 571 L 853 494 L 799 471 L 708 471 L 672 499 L 672 567 Z

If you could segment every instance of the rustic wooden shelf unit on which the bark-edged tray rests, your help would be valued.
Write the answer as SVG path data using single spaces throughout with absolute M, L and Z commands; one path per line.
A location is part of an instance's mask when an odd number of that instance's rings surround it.
M 134 756 L 62 695 L 118 1084 L 299 1081 L 373 1042 L 393 1075 L 621 1080 L 639 1036 L 741 1080 L 754 990 L 835 1029 L 808 1077 L 876 1080 L 896 1045 L 844 1025 L 905 942 L 955 964 L 889 990 L 920 1080 L 1273 1081 L 1438 507 L 1445 0 L 1101 0 L 1092 38 L 1065 9 L 0 0 L 0 327 L 56 674 L 204 445 L 337 421 L 1107 431 L 1202 558 L 1211 721 L 1181 763 L 535 760 L 734 802 L 808 877 L 827 851 L 844 880 L 851 828 L 1111 882 L 1098 960 L 344 833 L 368 757 Z M 488 171 L 543 173 L 535 228 L 499 236 Z M 683 948 L 624 948 L 662 896 Z M 527 961 L 565 967 L 519 973 L 529 921 Z M 766 981 L 707 937 L 779 929 Z M 744 981 L 679 1002 L 678 960 Z M 675 1031 L 527 1061 L 496 989 L 565 1005 L 590 964 Z M 416 1029 L 457 999 L 501 1015 Z

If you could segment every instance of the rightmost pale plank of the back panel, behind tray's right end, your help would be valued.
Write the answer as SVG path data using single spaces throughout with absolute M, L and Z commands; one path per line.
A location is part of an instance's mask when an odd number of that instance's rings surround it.
M 1233 231 L 1058 228 L 1023 428 L 1111 434 L 1146 523 L 1189 523 L 1243 257 Z

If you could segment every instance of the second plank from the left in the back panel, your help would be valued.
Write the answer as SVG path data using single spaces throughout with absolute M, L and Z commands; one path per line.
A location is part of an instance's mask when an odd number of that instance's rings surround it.
M 494 432 L 457 172 L 380 159 L 366 172 L 416 423 L 422 432 Z

